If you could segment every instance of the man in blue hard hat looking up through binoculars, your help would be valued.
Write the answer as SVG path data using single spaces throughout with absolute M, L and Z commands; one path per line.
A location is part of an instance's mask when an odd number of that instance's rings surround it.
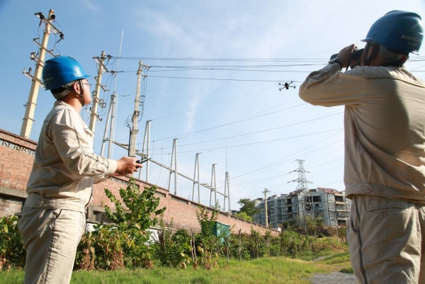
M 418 14 L 391 11 L 364 50 L 343 48 L 300 87 L 307 103 L 345 106 L 347 239 L 363 284 L 425 283 L 425 82 L 404 68 L 423 33 Z

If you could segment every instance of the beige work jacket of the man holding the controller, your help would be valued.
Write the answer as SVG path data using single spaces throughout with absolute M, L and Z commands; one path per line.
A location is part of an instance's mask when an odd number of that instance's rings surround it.
M 27 184 L 26 207 L 84 212 L 94 182 L 117 168 L 115 160 L 93 152 L 94 133 L 79 113 L 56 101 L 43 122 Z

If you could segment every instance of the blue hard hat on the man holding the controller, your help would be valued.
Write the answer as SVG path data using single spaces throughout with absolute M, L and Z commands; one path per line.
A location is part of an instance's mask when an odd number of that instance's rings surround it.
M 72 57 L 59 56 L 49 59 L 42 68 L 41 78 L 46 90 L 89 77 L 83 67 Z

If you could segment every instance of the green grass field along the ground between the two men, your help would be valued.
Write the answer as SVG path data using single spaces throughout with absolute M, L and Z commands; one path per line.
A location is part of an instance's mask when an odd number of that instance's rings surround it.
M 314 273 L 350 271 L 349 256 L 344 249 L 330 248 L 328 256 L 320 261 L 306 261 L 285 257 L 255 259 L 252 261 L 231 260 L 229 266 L 221 260 L 220 268 L 206 271 L 154 267 L 124 271 L 74 271 L 73 284 L 307 284 Z M 312 256 L 305 256 L 311 259 Z M 23 283 L 23 271 L 0 273 L 0 284 Z

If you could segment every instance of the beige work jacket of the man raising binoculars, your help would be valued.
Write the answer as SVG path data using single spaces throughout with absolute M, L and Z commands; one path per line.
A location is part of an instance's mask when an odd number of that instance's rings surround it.
M 312 72 L 300 98 L 345 106 L 348 198 L 370 194 L 425 203 L 425 83 L 404 68 L 330 64 Z

